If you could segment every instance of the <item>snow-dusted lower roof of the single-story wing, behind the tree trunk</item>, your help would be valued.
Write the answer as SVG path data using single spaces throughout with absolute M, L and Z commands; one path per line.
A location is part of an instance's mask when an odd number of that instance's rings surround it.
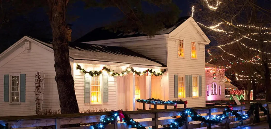
M 33 38 L 33 39 L 39 43 L 42 43 L 52 48 L 51 39 L 44 38 Z M 153 60 L 147 56 L 136 53 L 125 47 L 118 46 L 104 46 L 104 45 L 70 42 L 69 54 L 71 58 L 76 60 L 92 60 L 101 62 L 115 62 L 115 63 L 166 67 L 166 65 L 156 60 Z

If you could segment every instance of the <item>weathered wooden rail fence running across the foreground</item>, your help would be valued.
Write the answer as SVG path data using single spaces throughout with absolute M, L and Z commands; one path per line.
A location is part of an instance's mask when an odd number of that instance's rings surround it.
M 268 104 L 263 104 L 266 107 Z M 271 105 L 267 106 L 270 107 Z M 240 114 L 245 113 L 250 108 L 249 104 L 246 105 L 234 105 L 233 109 L 238 110 Z M 202 107 L 193 108 L 195 111 L 205 118 L 212 118 L 215 115 L 222 114 L 225 110 L 225 106 L 216 107 Z M 167 125 L 174 121 L 175 116 L 180 115 L 183 108 L 178 109 L 159 109 L 159 110 L 142 110 L 142 111 L 125 111 L 126 114 L 130 115 L 135 121 L 140 122 L 143 126 L 152 128 L 161 128 L 161 125 Z M 268 108 L 269 117 L 269 108 Z M 5 128 L 25 128 L 25 127 L 41 127 L 41 126 L 54 126 L 59 129 L 61 125 L 67 124 L 82 124 L 82 123 L 97 123 L 100 122 L 101 115 L 110 115 L 110 112 L 95 112 L 95 113 L 82 113 L 82 114 L 57 114 L 57 115 L 41 115 L 41 116 L 16 116 L 16 117 L 0 117 L 0 124 L 5 125 Z M 263 117 L 264 114 L 260 112 L 260 121 L 266 121 L 267 117 Z M 229 118 L 223 120 L 217 125 L 207 125 L 206 123 L 194 123 L 192 124 L 191 117 L 188 117 L 188 121 L 183 125 L 183 129 L 191 128 L 233 128 L 240 125 L 246 125 L 254 122 L 253 115 L 244 121 L 235 121 L 235 118 Z M 217 126 L 217 127 L 216 127 Z M 3 127 L 3 126 L 1 126 Z M 88 128 L 89 126 L 73 127 L 78 129 Z M 110 129 L 125 129 L 129 128 L 125 123 L 115 121 L 106 128 Z M 65 128 L 68 129 L 68 128 Z

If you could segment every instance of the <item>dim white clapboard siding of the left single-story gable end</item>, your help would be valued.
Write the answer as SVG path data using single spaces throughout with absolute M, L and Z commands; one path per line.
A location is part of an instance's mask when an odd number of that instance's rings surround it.
M 22 49 L 21 47 L 20 49 Z M 35 115 L 35 73 L 40 71 L 45 74 L 43 109 L 58 110 L 59 98 L 54 80 L 54 58 L 53 53 L 40 51 L 41 47 L 31 43 L 30 50 L 24 50 L 9 62 L 0 67 L 0 116 Z M 45 50 L 45 49 L 43 49 Z M 17 50 L 14 51 L 16 53 Z M 45 50 L 46 51 L 46 50 Z M 11 58 L 8 56 L 8 58 Z M 25 102 L 20 104 L 9 104 L 4 102 L 4 75 L 26 74 L 25 80 Z M 9 93 L 10 94 L 10 93 Z

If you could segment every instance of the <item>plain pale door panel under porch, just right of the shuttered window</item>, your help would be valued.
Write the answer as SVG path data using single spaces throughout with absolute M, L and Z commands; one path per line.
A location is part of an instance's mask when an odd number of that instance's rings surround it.
M 118 84 L 118 110 L 127 111 L 126 107 L 126 87 L 125 87 L 125 77 L 117 77 L 117 84 Z

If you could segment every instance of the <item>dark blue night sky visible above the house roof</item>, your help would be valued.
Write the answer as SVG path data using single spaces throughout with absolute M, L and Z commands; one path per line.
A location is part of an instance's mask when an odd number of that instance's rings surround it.
M 190 12 L 188 0 L 173 0 L 173 2 L 182 10 L 180 17 L 187 16 Z M 105 26 L 112 21 L 117 21 L 122 16 L 117 8 L 89 8 L 84 9 L 83 2 L 76 2 L 68 12 L 71 15 L 78 16 L 76 20 L 69 22 L 73 24 L 72 40 L 82 37 L 89 31 Z

